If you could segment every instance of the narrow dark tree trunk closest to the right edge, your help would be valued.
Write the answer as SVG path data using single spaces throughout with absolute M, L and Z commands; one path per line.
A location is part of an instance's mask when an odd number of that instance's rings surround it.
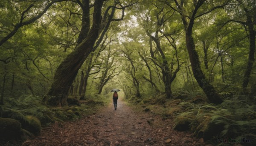
M 250 72 L 253 68 L 254 53 L 255 53 L 255 31 L 253 30 L 253 22 L 250 16 L 247 16 L 247 25 L 249 27 L 249 33 L 250 33 L 250 50 L 249 50 L 249 57 L 248 57 L 246 70 L 244 72 L 244 80 L 242 83 L 243 92 L 246 91 L 247 85 L 249 83 Z

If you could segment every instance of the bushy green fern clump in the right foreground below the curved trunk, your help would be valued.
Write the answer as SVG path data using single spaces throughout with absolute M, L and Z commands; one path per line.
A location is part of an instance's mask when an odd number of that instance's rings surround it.
M 189 126 L 197 137 L 212 141 L 217 137 L 237 138 L 248 133 L 255 134 L 256 106 L 250 104 L 246 99 L 241 99 L 240 95 L 224 100 L 224 103 L 218 106 L 180 103 L 172 108 L 178 109 L 179 112 L 174 120 L 174 129 L 181 130 L 181 125 Z M 181 110 L 184 108 L 186 110 Z

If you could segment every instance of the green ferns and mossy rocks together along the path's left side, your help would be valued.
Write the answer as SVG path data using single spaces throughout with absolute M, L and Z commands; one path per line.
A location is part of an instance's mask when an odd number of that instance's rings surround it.
M 94 114 L 107 102 L 101 95 L 79 101 L 80 106 L 52 107 L 42 104 L 41 100 L 42 97 L 25 95 L 19 98 L 8 98 L 5 105 L 0 106 L 0 123 L 2 124 L 0 124 L 0 133 L 9 133 L 6 136 L 1 135 L 0 142 L 2 143 L 0 144 L 13 138 L 25 140 L 27 137 L 38 135 L 42 126 L 48 126 L 51 123 L 64 123 L 64 121 Z M 14 128 L 6 128 L 12 127 L 12 124 L 7 123 L 14 123 L 17 127 L 16 131 Z M 12 135 L 13 133 L 17 134 Z

